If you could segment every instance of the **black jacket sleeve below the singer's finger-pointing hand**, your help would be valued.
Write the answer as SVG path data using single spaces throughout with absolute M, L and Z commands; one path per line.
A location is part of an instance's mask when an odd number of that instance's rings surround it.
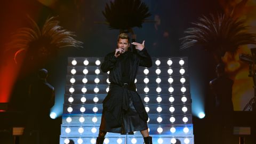
M 141 51 L 137 51 L 139 58 L 140 58 L 140 64 L 139 66 L 143 67 L 151 67 L 152 66 L 152 60 L 150 55 L 148 54 L 147 50 L 144 48 Z

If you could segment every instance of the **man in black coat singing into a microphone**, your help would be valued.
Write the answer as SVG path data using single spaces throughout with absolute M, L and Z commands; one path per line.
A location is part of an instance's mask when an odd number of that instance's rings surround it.
M 121 33 L 117 49 L 106 55 L 101 65 L 103 72 L 109 71 L 110 89 L 103 100 L 103 111 L 97 144 L 103 143 L 107 132 L 133 133 L 140 131 L 146 144 L 152 143 L 148 133 L 148 114 L 134 84 L 139 66 L 151 67 L 151 58 L 145 49 L 145 41 L 133 42 L 137 52 L 128 50 L 129 36 Z

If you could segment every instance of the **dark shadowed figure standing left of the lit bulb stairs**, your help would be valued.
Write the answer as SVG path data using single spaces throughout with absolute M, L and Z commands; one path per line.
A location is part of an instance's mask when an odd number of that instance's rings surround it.
M 27 143 L 50 143 L 50 108 L 54 105 L 54 87 L 46 81 L 48 71 L 40 69 L 38 78 L 29 86 L 29 119 Z

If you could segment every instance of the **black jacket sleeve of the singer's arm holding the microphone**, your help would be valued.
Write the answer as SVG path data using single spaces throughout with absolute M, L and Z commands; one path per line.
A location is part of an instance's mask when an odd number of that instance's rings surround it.
M 117 58 L 114 53 L 109 53 L 105 56 L 103 63 L 101 64 L 100 69 L 107 73 L 110 69 L 114 68 Z

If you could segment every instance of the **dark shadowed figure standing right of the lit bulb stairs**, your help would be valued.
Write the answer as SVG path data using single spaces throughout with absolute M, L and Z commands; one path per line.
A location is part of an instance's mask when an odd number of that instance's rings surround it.
M 217 78 L 210 82 L 211 91 L 215 97 L 214 117 L 215 117 L 215 143 L 226 143 L 231 137 L 233 102 L 232 86 L 233 80 L 225 74 L 225 66 L 220 63 L 216 67 Z

